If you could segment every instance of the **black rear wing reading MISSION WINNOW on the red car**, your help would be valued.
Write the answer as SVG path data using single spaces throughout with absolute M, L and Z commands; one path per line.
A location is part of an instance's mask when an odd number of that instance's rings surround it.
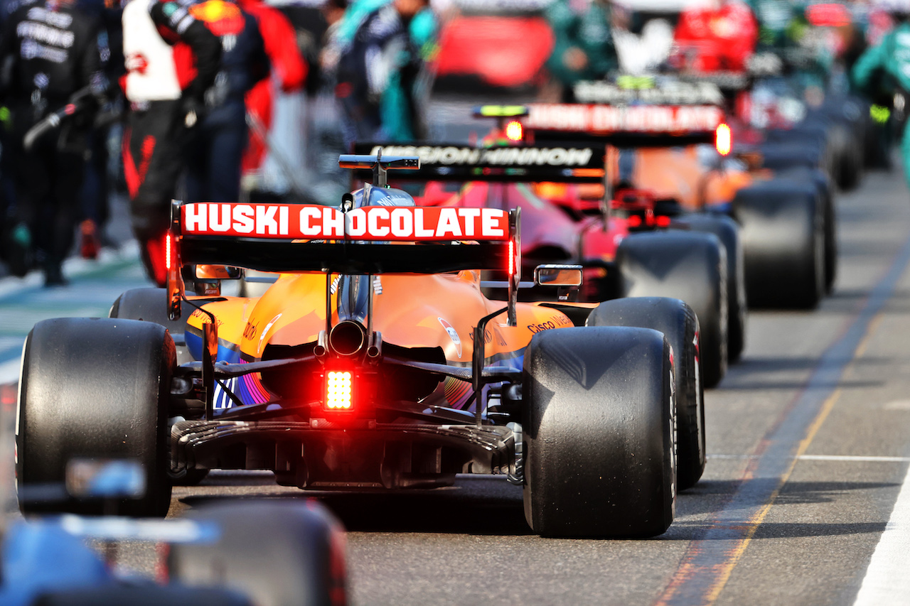
M 601 183 L 606 149 L 602 144 L 553 141 L 546 145 L 471 147 L 462 144 L 379 145 L 360 143 L 357 154 L 420 157 L 420 169 L 399 178 L 413 181 L 494 181 L 521 183 Z M 354 176 L 369 180 L 361 169 Z

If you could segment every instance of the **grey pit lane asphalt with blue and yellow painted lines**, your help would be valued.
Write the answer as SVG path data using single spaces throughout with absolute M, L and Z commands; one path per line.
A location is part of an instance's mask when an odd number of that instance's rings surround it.
M 706 396 L 705 476 L 679 496 L 667 533 L 540 539 L 521 490 L 498 478 L 307 493 L 349 530 L 352 602 L 852 604 L 910 462 L 910 194 L 900 175 L 871 173 L 838 210 L 834 295 L 813 312 L 751 315 L 743 361 Z M 134 286 L 118 269 L 105 291 L 121 276 Z M 81 292 L 81 279 L 66 290 Z M 0 298 L 3 321 L 10 305 Z M 172 516 L 212 499 L 304 498 L 267 472 L 216 472 L 174 496 Z M 121 553 L 152 570 L 150 547 Z

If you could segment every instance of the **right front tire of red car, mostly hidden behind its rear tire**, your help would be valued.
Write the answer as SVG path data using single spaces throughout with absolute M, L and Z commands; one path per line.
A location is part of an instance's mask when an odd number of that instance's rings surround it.
M 693 231 L 716 236 L 727 254 L 727 361 L 736 362 L 745 348 L 748 304 L 745 297 L 745 259 L 743 242 L 736 221 L 726 215 L 690 214 L 677 223 Z

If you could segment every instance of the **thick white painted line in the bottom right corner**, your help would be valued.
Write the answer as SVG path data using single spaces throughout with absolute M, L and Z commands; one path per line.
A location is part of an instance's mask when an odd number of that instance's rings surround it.
M 910 596 L 910 470 L 878 540 L 854 606 L 898 606 Z

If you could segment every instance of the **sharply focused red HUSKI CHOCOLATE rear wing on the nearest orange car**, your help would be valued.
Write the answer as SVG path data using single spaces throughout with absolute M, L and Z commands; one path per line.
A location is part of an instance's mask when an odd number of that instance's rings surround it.
M 175 265 L 334 274 L 501 269 L 517 217 L 497 208 L 175 202 Z

